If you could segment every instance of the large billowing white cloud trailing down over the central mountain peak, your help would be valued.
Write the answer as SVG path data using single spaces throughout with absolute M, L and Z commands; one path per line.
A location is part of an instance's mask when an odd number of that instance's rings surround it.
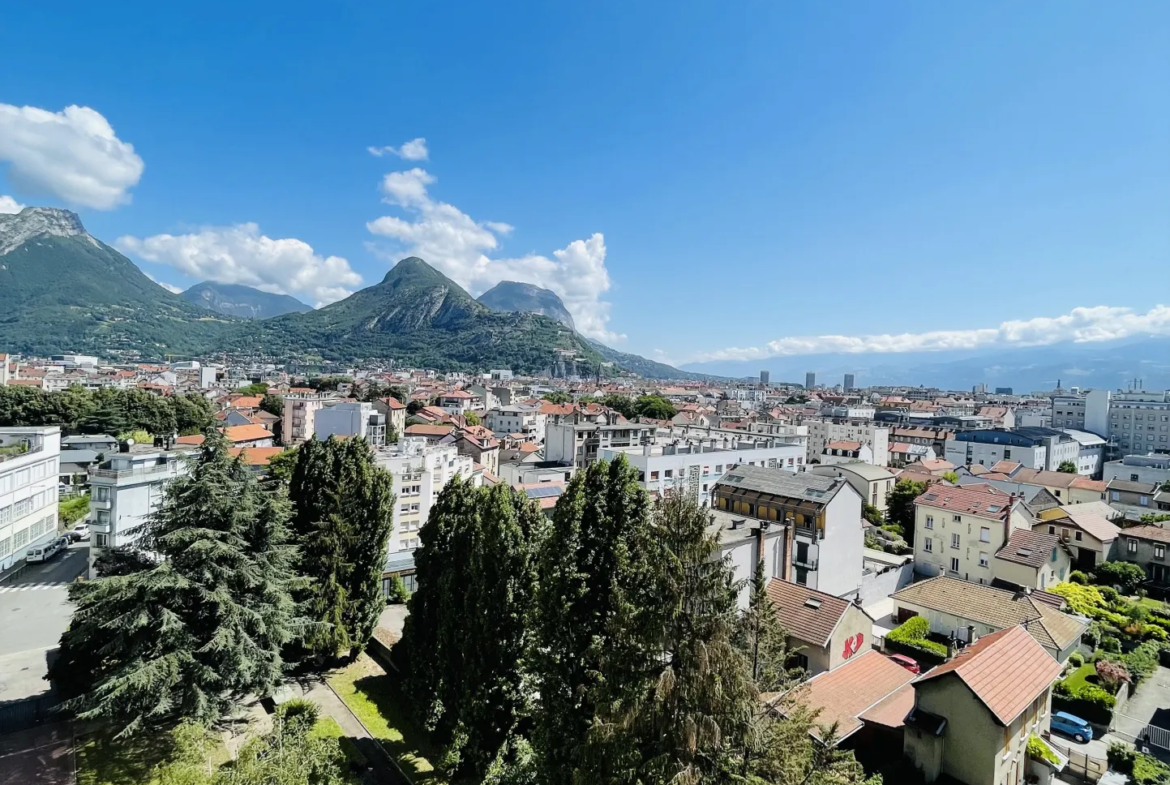
M 523 281 L 555 291 L 573 315 L 577 329 L 598 340 L 617 343 L 624 335 L 607 329 L 610 303 L 601 296 L 610 289 L 605 267 L 605 237 L 593 234 L 574 240 L 551 257 L 528 254 L 515 259 L 493 259 L 500 237 L 512 232 L 508 223 L 476 221 L 457 207 L 435 201 L 427 186 L 434 175 L 421 168 L 391 172 L 383 178 L 384 201 L 401 207 L 407 218 L 384 215 L 366 223 L 374 235 L 388 237 L 397 246 L 379 249 L 384 256 L 419 256 L 445 275 L 480 295 L 501 281 Z M 401 252 L 401 253 L 399 253 Z M 395 255 L 397 254 L 397 255 Z

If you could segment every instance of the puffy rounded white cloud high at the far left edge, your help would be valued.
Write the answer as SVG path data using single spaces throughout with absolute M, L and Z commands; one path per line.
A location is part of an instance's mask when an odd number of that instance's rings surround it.
M 18 191 L 112 209 L 130 201 L 143 159 L 89 106 L 50 112 L 0 104 L 0 161 Z

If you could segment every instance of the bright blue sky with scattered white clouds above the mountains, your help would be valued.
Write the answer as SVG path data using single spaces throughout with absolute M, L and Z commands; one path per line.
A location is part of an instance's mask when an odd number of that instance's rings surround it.
M 311 303 L 422 249 L 676 361 L 1170 330 L 1170 4 L 721 5 L 18 4 L 0 195 Z

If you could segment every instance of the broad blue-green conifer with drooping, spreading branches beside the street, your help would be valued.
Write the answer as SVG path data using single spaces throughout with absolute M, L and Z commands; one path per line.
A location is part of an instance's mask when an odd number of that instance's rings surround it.
M 126 736 L 215 722 L 242 696 L 269 694 L 297 624 L 287 519 L 287 502 L 263 493 L 209 432 L 135 532 L 160 560 L 70 585 L 74 617 L 50 670 L 77 693 L 66 708 Z

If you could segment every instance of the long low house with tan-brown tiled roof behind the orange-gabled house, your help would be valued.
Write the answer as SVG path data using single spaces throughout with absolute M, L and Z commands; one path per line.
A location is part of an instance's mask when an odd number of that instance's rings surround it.
M 894 620 L 913 617 L 930 622 L 930 632 L 966 642 L 1023 625 L 1058 662 L 1080 643 L 1088 619 L 1064 613 L 1064 599 L 1044 591 L 1010 591 L 945 576 L 910 584 L 893 594 Z

